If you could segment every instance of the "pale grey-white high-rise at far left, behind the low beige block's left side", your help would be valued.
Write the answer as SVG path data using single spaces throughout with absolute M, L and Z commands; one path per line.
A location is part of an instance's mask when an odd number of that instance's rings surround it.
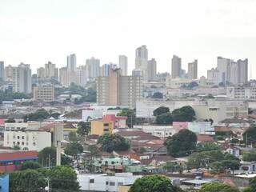
M 12 82 L 14 92 L 30 94 L 31 90 L 31 70 L 29 64 L 21 63 L 12 69 Z

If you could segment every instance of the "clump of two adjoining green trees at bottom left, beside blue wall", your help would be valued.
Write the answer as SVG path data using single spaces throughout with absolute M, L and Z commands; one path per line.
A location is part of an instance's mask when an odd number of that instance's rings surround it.
M 44 191 L 50 181 L 50 191 L 78 192 L 77 174 L 70 167 L 54 166 L 50 169 L 21 170 L 10 173 L 10 192 Z

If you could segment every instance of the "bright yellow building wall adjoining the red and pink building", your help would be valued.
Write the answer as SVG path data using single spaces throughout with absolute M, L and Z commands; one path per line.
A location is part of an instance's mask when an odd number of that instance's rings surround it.
M 105 126 L 104 124 L 108 123 L 109 126 Z M 108 132 L 104 132 L 104 129 L 108 129 Z M 112 134 L 114 130 L 114 123 L 113 122 L 102 122 L 102 121 L 91 121 L 90 124 L 90 134 L 97 134 L 97 135 L 102 135 L 102 134 Z

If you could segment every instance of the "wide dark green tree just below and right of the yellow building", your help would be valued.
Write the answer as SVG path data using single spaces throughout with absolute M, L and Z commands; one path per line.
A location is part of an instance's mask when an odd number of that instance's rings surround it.
M 102 145 L 102 150 L 111 153 L 113 150 L 128 150 L 130 144 L 120 134 L 103 134 L 98 138 L 98 143 Z

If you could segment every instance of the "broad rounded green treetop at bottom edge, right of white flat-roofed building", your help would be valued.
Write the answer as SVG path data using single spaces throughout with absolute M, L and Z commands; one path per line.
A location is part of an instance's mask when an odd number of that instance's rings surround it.
M 129 192 L 178 192 L 182 191 L 177 186 L 173 186 L 169 178 L 161 175 L 150 175 L 138 178 Z

